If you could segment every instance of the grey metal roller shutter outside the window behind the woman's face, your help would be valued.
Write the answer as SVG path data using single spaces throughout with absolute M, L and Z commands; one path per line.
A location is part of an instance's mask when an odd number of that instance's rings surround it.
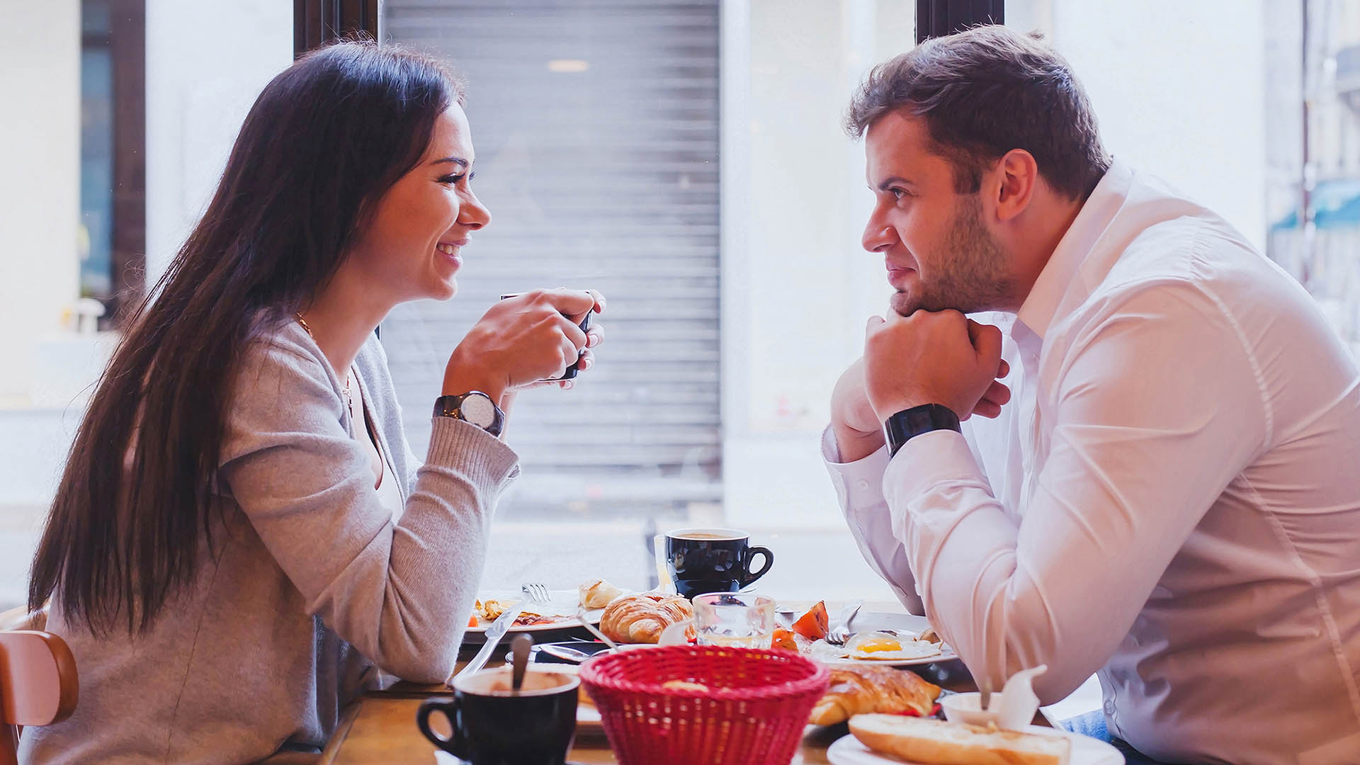
M 511 414 L 506 506 L 657 512 L 721 494 L 715 0 L 386 0 L 389 39 L 469 80 L 492 222 L 458 295 L 382 324 L 412 448 L 449 353 L 502 293 L 608 297 L 598 365 Z

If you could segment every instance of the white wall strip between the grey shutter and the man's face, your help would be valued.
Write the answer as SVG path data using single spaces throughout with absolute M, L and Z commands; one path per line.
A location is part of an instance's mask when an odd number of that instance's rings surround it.
M 868 68 L 911 48 L 914 5 L 724 12 L 724 508 L 738 525 L 843 530 L 817 437 L 891 290 L 860 248 L 870 195 L 840 120 Z

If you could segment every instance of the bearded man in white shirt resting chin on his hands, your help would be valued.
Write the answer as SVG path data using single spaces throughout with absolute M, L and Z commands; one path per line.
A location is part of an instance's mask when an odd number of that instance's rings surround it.
M 847 128 L 896 295 L 823 451 L 870 565 L 979 683 L 1098 674 L 1145 755 L 1360 762 L 1360 372 L 1311 298 L 1004 27 L 880 65 Z

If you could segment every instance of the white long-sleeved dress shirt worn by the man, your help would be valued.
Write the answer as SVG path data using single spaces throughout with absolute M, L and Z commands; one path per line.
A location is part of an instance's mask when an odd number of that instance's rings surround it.
M 870 566 L 993 687 L 1096 672 L 1151 757 L 1360 762 L 1360 372 L 1310 295 L 1117 163 L 996 323 L 1000 418 L 823 436 Z

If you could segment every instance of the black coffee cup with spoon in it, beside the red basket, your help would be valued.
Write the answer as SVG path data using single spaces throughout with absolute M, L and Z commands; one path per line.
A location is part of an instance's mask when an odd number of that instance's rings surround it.
M 563 765 L 577 734 L 581 678 L 530 670 L 520 691 L 510 667 L 453 681 L 453 698 L 427 698 L 416 724 L 435 746 L 472 765 Z M 430 730 L 430 715 L 449 719 L 453 735 Z

